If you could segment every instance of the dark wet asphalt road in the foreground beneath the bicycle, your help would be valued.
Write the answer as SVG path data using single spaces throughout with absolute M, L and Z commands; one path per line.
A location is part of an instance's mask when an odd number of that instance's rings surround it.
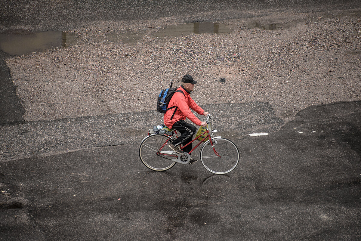
M 361 101 L 235 141 L 227 175 L 148 170 L 138 144 L 0 166 L 0 240 L 360 240 Z

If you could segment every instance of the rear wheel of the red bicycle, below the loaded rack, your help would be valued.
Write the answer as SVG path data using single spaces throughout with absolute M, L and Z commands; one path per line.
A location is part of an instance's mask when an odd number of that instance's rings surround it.
M 161 147 L 169 139 L 169 136 L 162 134 L 154 134 L 146 137 L 139 146 L 139 157 L 143 164 L 154 171 L 165 171 L 175 165 L 172 157 L 169 155 L 160 154 Z M 170 140 L 173 140 L 170 138 Z M 168 143 L 164 145 L 162 151 L 172 151 L 168 147 Z

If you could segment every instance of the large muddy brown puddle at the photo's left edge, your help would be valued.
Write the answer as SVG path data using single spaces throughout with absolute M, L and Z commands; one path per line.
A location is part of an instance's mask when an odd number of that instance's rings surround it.
M 74 36 L 62 31 L 30 32 L 9 30 L 0 33 L 0 49 L 12 55 L 43 52 L 56 47 L 68 47 Z

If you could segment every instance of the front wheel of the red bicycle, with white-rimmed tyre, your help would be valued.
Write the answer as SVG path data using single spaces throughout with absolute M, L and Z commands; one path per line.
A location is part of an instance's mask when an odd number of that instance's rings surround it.
M 239 162 L 237 146 L 222 137 L 213 138 L 214 149 L 210 140 L 206 141 L 200 150 L 203 166 L 214 174 L 226 174 L 232 171 Z

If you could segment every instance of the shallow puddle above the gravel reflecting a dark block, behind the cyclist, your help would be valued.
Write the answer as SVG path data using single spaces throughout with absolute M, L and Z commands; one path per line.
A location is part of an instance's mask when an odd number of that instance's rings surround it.
M 187 34 L 225 34 L 231 32 L 229 26 L 214 22 L 195 22 L 181 25 L 167 26 L 159 30 L 155 35 L 160 36 L 179 36 Z

